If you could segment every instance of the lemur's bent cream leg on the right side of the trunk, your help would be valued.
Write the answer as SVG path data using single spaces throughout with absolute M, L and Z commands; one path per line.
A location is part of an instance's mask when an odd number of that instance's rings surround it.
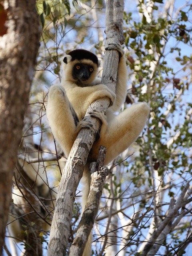
M 111 162 L 140 135 L 148 114 L 149 106 L 141 102 L 133 104 L 118 116 L 114 115 L 114 118 L 106 126 L 104 125 L 104 132 L 101 129 L 100 139 L 94 144 L 93 152 L 97 153 L 100 145 L 105 146 L 107 148 L 105 164 Z M 94 117 L 103 120 L 103 114 L 100 116 L 99 113 L 95 113 Z

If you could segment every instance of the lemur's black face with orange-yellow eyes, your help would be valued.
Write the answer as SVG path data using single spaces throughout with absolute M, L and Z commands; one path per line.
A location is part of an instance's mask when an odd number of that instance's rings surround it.
M 91 65 L 77 63 L 73 67 L 72 76 L 75 80 L 78 79 L 78 83 L 83 84 L 83 82 L 86 82 L 90 78 L 93 70 L 94 68 Z

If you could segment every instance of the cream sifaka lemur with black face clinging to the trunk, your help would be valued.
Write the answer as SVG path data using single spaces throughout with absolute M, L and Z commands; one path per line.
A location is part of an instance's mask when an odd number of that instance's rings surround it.
M 92 146 L 88 162 L 97 160 L 98 150 L 102 145 L 107 149 L 105 164 L 110 163 L 136 140 L 146 124 L 149 106 L 144 102 L 133 104 L 116 114 L 126 98 L 127 68 L 121 46 L 109 44 L 106 47 L 106 50 L 114 49 L 118 50 L 120 55 L 115 94 L 97 77 L 97 56 L 83 49 L 68 52 L 63 60 L 64 76 L 61 84 L 50 87 L 46 114 L 52 134 L 66 157 L 80 129 L 92 126 L 90 120 L 84 118 L 88 106 L 102 97 L 108 97 L 111 105 L 106 114 L 97 109 L 89 113 L 99 118 L 102 125 L 100 137 Z M 84 193 L 87 194 L 90 187 L 88 168 L 85 168 L 84 176 L 87 180 L 87 189 Z M 84 200 L 86 197 L 87 195 L 84 196 Z M 84 256 L 89 254 L 90 252 L 84 252 Z

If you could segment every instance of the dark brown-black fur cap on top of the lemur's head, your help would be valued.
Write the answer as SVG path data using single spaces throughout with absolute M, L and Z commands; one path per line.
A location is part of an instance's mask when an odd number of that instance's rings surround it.
M 72 57 L 72 60 L 88 59 L 88 60 L 92 60 L 95 64 L 97 64 L 97 66 L 99 66 L 97 56 L 90 51 L 87 51 L 84 49 L 76 49 L 68 52 L 67 54 Z

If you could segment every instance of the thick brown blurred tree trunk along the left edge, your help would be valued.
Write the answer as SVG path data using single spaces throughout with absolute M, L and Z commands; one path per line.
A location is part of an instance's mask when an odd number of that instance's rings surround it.
M 35 0 L 4 0 L 7 33 L 0 37 L 0 254 L 8 218 L 13 169 L 39 48 Z

